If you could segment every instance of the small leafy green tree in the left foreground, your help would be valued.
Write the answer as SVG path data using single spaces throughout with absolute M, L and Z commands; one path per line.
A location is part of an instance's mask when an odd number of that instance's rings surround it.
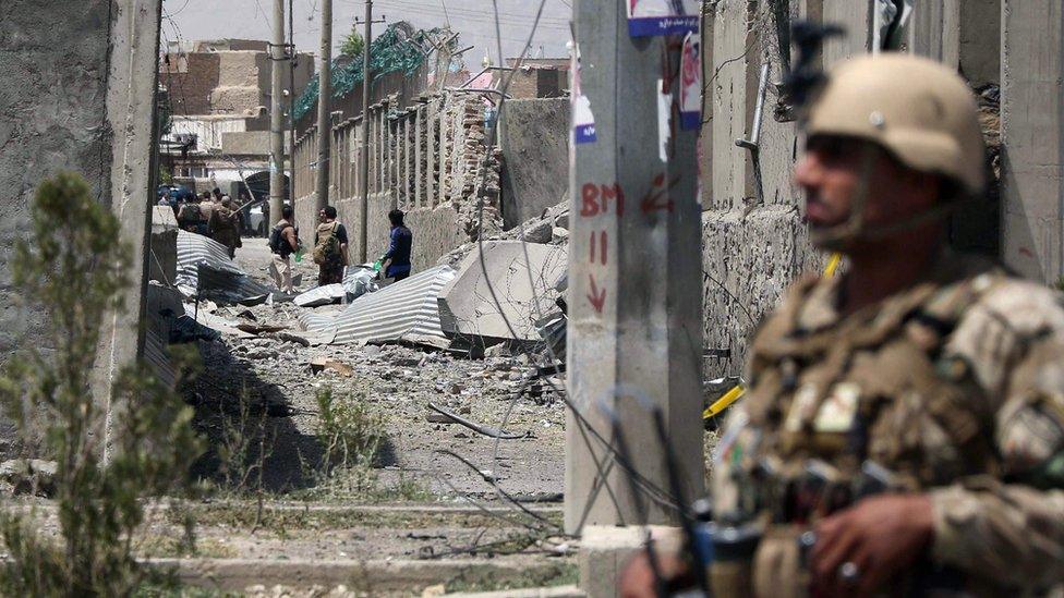
M 186 483 L 200 453 L 192 411 L 141 365 L 118 373 L 106 404 L 93 396 L 100 322 L 122 309 L 132 254 L 77 175 L 41 183 L 32 216 L 33 243 L 20 242 L 9 264 L 46 308 L 48 330 L 7 364 L 0 401 L 27 447 L 56 461 L 60 537 L 27 515 L 0 514 L 10 554 L 0 582 L 10 596 L 129 596 L 142 581 L 133 550 L 142 499 Z

